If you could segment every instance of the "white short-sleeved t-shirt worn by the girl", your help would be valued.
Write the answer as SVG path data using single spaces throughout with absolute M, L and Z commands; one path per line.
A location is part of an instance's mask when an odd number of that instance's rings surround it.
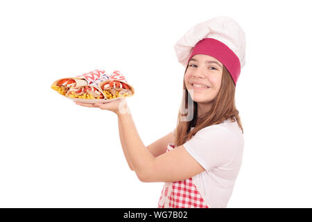
M 237 122 L 202 128 L 183 146 L 205 168 L 192 179 L 208 207 L 227 207 L 243 157 L 243 133 Z

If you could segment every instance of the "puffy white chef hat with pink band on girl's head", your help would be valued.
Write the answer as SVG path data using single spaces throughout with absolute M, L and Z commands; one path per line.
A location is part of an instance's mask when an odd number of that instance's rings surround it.
M 245 33 L 234 19 L 214 17 L 190 28 L 174 49 L 177 60 L 187 67 L 196 54 L 212 56 L 222 62 L 236 85 L 241 68 L 245 65 Z

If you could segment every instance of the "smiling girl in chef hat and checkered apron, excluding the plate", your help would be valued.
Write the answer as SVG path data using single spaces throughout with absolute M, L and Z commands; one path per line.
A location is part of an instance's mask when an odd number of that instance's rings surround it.
M 142 182 L 164 182 L 158 207 L 226 207 L 243 156 L 234 95 L 245 34 L 233 19 L 216 17 L 185 33 L 175 52 L 186 67 L 177 126 L 153 144 L 144 146 L 125 99 L 77 104 L 117 114 L 130 169 Z

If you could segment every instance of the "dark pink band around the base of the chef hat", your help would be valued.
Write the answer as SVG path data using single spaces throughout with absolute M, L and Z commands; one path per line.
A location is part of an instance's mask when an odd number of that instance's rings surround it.
M 229 71 L 229 74 L 231 74 L 236 86 L 239 74 L 241 73 L 241 62 L 236 54 L 229 49 L 227 45 L 213 38 L 205 38 L 200 40 L 196 46 L 194 46 L 189 60 L 196 54 L 212 56 L 222 62 L 222 64 Z

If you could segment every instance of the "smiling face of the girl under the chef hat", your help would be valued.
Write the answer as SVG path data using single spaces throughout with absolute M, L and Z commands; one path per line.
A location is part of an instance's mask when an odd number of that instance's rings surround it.
M 210 103 L 219 92 L 223 65 L 214 57 L 197 54 L 189 60 L 184 83 L 193 101 Z

